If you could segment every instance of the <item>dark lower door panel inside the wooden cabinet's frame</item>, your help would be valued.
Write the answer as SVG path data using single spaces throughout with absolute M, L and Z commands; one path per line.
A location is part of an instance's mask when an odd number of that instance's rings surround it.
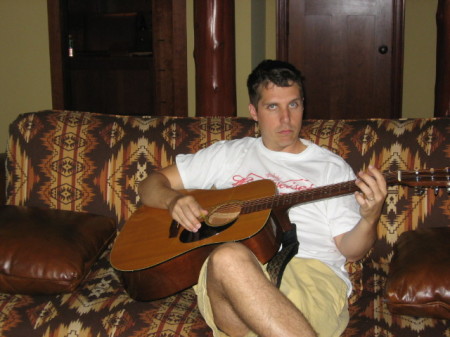
M 66 109 L 156 115 L 153 60 L 74 57 L 67 67 Z

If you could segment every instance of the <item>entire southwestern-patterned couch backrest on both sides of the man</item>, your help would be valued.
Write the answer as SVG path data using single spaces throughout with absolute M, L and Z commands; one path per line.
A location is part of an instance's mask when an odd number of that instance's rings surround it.
M 305 120 L 302 137 L 341 155 L 355 172 L 438 168 L 450 162 L 450 118 Z M 135 117 L 76 111 L 19 115 L 10 126 L 7 203 L 91 212 L 119 228 L 139 205 L 147 174 L 222 139 L 258 136 L 244 117 Z M 373 258 L 389 259 L 398 236 L 446 226 L 444 192 L 390 186 Z

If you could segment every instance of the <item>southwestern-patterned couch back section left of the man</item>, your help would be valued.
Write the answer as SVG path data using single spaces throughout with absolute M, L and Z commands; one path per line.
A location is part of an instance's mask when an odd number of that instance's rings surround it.
M 20 115 L 10 126 L 8 204 L 112 216 L 123 225 L 147 174 L 221 139 L 255 136 L 247 118 Z

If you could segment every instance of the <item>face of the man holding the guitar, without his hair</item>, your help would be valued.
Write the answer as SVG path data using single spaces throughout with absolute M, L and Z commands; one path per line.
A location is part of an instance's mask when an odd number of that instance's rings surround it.
M 300 153 L 305 146 L 298 139 L 303 117 L 303 102 L 297 84 L 278 87 L 273 83 L 260 88 L 258 106 L 249 105 L 258 122 L 264 145 L 272 151 Z

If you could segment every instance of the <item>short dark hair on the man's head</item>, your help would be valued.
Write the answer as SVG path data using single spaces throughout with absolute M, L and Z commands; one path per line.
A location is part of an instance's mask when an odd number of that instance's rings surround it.
M 261 99 L 260 88 L 273 83 L 278 87 L 290 87 L 298 84 L 303 98 L 302 74 L 292 64 L 278 60 L 264 60 L 256 66 L 247 79 L 250 103 L 255 107 Z

